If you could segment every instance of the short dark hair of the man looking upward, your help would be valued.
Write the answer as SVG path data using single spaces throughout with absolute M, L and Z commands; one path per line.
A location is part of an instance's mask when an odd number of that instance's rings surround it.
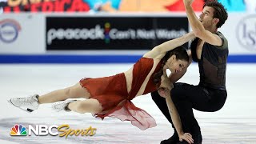
M 226 12 L 225 7 L 222 5 L 222 3 L 216 1 L 216 0 L 208 0 L 204 4 L 203 8 L 205 6 L 210 6 L 214 8 L 214 18 L 218 18 L 219 22 L 217 23 L 217 28 L 221 27 L 228 17 L 228 14 Z

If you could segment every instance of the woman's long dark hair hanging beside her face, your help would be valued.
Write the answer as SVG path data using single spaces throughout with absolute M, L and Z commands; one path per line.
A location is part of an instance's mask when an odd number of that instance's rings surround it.
M 177 60 L 184 60 L 186 62 L 189 62 L 190 58 L 189 55 L 186 52 L 186 48 L 182 47 L 182 46 L 178 46 L 177 48 L 170 50 L 166 53 L 166 55 L 162 58 L 162 67 L 161 69 L 154 74 L 153 77 L 153 81 L 154 83 L 159 86 L 160 82 L 161 82 L 161 76 L 163 74 L 162 68 L 163 66 L 165 66 L 167 60 L 172 56 L 172 55 L 176 55 L 176 59 Z

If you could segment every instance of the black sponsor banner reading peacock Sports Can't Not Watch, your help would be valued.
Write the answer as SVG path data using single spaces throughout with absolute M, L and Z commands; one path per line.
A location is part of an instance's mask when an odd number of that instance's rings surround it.
M 46 17 L 46 50 L 150 50 L 187 32 L 186 17 Z

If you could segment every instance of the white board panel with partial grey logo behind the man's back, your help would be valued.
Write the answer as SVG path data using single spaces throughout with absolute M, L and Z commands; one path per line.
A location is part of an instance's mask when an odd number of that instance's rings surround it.
M 228 39 L 230 54 L 256 54 L 256 14 L 229 14 L 219 31 Z

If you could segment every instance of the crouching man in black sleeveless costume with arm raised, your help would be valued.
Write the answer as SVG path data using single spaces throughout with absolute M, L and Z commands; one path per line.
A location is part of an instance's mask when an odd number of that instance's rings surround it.
M 208 1 L 203 6 L 199 19 L 191 6 L 194 0 L 183 0 L 187 18 L 197 38 L 191 43 L 190 50 L 194 62 L 198 62 L 200 82 L 198 86 L 186 83 L 175 83 L 170 96 L 178 110 L 184 132 L 192 134 L 194 143 L 202 143 L 202 134 L 193 110 L 214 112 L 220 110 L 226 102 L 226 59 L 228 56 L 228 43 L 222 33 L 218 31 L 228 14 L 224 6 L 217 1 Z M 176 82 L 186 70 L 170 77 Z M 151 93 L 154 102 L 166 116 L 170 123 L 170 112 L 166 106 L 165 98 L 155 91 Z M 173 126 L 174 127 L 174 126 Z M 179 142 L 178 133 L 161 143 L 187 143 Z

